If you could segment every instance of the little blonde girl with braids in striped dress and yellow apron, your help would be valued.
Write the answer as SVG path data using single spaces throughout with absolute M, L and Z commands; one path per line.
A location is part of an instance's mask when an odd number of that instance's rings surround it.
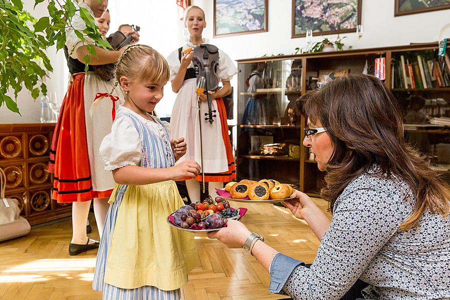
M 92 284 L 103 291 L 103 299 L 179 299 L 197 263 L 193 236 L 166 222 L 183 205 L 173 180 L 200 171 L 191 160 L 174 165 L 186 152 L 186 142 L 170 139 L 163 123 L 150 114 L 168 78 L 167 62 L 146 45 L 127 47 L 116 64 L 114 88 L 120 84 L 125 103 L 101 142 L 100 155 L 117 185 L 109 198 Z

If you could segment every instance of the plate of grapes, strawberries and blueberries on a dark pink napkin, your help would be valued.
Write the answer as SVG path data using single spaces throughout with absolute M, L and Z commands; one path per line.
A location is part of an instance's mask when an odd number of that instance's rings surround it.
M 210 232 L 226 227 L 229 219 L 240 220 L 246 211 L 246 208 L 230 207 L 222 197 L 217 196 L 214 200 L 209 197 L 202 203 L 181 206 L 167 216 L 167 223 L 190 232 Z

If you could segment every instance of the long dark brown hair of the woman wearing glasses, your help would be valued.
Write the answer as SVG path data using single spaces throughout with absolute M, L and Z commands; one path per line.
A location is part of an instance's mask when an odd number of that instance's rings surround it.
M 405 143 L 400 108 L 378 78 L 363 74 L 338 77 L 301 96 L 297 105 L 311 123 L 319 120 L 326 127 L 334 146 L 326 164 L 326 186 L 320 191 L 331 209 L 348 183 L 376 164 L 377 175 L 402 178 L 415 195 L 413 212 L 400 230 L 415 227 L 426 208 L 448 214 L 449 186 Z

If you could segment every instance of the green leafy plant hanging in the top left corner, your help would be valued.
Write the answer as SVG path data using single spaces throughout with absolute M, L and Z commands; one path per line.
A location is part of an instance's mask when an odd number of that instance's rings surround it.
M 35 0 L 34 7 L 44 0 Z M 46 50 L 56 44 L 61 49 L 65 44 L 65 33 L 74 29 L 70 21 L 79 15 L 86 23 L 86 29 L 75 30 L 75 34 L 85 42 L 91 38 L 97 46 L 107 48 L 109 43 L 101 38 L 98 27 L 89 11 L 75 6 L 72 0 L 46 0 L 48 15 L 34 18 L 23 9 L 22 0 L 0 0 L 0 106 L 3 103 L 11 111 L 20 114 L 16 98 L 24 86 L 35 99 L 39 93 L 46 94 L 47 88 L 43 78 L 53 68 L 46 55 Z M 68 49 L 69 52 L 72 49 Z M 88 51 L 95 55 L 95 48 L 88 45 Z M 90 61 L 89 55 L 84 62 Z M 14 99 L 6 95 L 14 91 Z

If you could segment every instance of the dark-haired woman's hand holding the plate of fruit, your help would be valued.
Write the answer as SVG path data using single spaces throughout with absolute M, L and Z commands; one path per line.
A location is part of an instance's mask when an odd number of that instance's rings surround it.
M 250 233 L 250 230 L 248 230 L 241 222 L 228 220 L 226 222 L 226 227 L 223 227 L 218 231 L 209 232 L 208 237 L 217 238 L 228 248 L 241 248 Z

